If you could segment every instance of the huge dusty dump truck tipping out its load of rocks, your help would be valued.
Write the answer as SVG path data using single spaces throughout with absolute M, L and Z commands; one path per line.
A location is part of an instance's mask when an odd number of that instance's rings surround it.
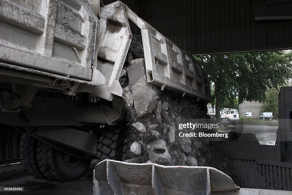
M 92 159 L 151 149 L 153 162 L 196 164 L 190 144 L 183 162 L 167 148 L 175 118 L 207 117 L 208 75 L 121 1 L 3 0 L 0 23 L 1 161 L 20 151 L 31 175 L 65 182 Z

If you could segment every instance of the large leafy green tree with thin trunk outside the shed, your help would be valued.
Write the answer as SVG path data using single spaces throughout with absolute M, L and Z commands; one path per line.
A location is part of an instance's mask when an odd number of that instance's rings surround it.
M 265 100 L 265 92 L 292 77 L 292 54 L 283 51 L 195 56 L 215 89 L 216 120 L 225 98 L 241 103 Z

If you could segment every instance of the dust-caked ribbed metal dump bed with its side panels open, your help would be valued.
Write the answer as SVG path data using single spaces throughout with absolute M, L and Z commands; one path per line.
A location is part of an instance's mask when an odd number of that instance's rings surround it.
M 0 10 L 3 67 L 68 80 L 65 94 L 87 92 L 111 101 L 123 94 L 119 77 L 126 72 L 132 39 L 129 18 L 142 28 L 147 82 L 210 101 L 208 78 L 199 65 L 121 1 L 103 6 L 100 13 L 99 1 L 90 2 L 93 10 L 83 0 L 1 4 L 9 11 Z M 55 80 L 48 84 L 60 89 Z

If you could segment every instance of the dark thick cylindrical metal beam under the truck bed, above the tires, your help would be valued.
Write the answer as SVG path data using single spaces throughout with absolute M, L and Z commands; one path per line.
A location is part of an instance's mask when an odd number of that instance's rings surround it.
M 119 110 L 122 112 L 123 110 Z M 17 126 L 82 125 L 84 123 L 114 124 L 122 113 L 96 103 L 56 98 L 38 98 L 20 113 L 0 111 L 0 123 Z

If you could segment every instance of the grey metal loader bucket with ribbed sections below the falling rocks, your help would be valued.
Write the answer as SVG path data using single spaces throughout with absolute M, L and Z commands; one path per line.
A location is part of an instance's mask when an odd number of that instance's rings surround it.
M 210 194 L 239 190 L 225 173 L 211 167 L 163 166 L 104 160 L 93 176 L 93 194 Z

